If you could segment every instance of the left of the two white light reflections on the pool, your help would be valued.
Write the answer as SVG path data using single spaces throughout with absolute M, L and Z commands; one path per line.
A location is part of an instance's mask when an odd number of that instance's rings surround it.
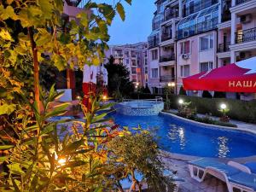
M 180 148 L 183 150 L 186 146 L 184 128 L 177 125 L 170 125 L 170 126 L 171 126 L 171 129 L 168 132 L 168 137 L 170 138 L 172 143 L 177 143 L 177 141 L 179 141 Z

